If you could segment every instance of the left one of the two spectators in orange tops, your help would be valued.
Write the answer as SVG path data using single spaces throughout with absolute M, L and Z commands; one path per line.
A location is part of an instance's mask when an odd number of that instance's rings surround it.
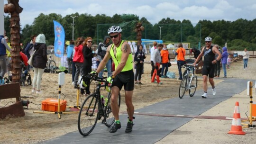
M 170 59 L 169 59 L 169 52 L 167 50 L 166 45 L 164 45 L 163 49 L 161 50 L 161 57 L 162 57 L 162 76 L 161 76 L 161 78 L 167 78 L 166 74 L 168 72 L 168 63 L 169 63 Z

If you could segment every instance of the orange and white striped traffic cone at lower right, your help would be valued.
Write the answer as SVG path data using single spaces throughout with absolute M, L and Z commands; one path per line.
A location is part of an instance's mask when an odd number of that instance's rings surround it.
M 245 135 L 246 134 L 246 132 L 243 132 L 243 130 L 242 130 L 238 101 L 236 102 L 236 106 L 235 106 L 235 110 L 234 110 L 231 130 L 229 131 L 228 134 L 235 134 L 235 135 Z

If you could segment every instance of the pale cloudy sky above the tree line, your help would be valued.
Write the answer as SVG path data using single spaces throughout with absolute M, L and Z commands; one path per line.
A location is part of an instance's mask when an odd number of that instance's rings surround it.
M 8 3 L 4 0 L 4 3 Z M 31 25 L 40 13 L 61 14 L 63 17 L 78 12 L 95 16 L 106 14 L 135 14 L 150 23 L 162 18 L 188 19 L 193 24 L 199 20 L 229 20 L 256 18 L 256 0 L 19 0 L 22 27 Z M 5 14 L 7 15 L 7 14 Z

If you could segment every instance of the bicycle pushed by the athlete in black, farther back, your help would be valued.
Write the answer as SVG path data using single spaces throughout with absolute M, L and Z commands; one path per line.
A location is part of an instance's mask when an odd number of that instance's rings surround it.
M 181 85 L 179 88 L 179 97 L 183 98 L 186 91 L 189 90 L 189 96 L 193 97 L 197 88 L 197 76 L 194 75 L 195 67 L 192 64 L 184 64 L 186 74 L 183 76 Z

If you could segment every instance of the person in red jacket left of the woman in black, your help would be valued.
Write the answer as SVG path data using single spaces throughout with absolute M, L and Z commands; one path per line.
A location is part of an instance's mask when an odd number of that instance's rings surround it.
M 77 81 L 78 81 L 78 77 L 79 75 L 82 74 L 82 63 L 83 63 L 83 54 L 82 54 L 82 47 L 83 47 L 83 42 L 84 42 L 85 38 L 81 37 L 79 42 L 76 43 L 74 50 L 75 50 L 75 54 L 73 57 L 73 62 L 75 62 L 75 76 L 74 76 L 74 88 L 77 89 Z

